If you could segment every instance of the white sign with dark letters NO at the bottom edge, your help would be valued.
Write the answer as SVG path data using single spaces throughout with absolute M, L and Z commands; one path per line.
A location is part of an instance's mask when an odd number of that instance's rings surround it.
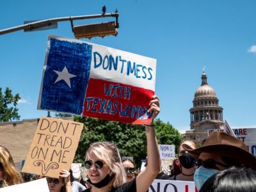
M 193 181 L 155 179 L 148 192 L 198 192 Z

